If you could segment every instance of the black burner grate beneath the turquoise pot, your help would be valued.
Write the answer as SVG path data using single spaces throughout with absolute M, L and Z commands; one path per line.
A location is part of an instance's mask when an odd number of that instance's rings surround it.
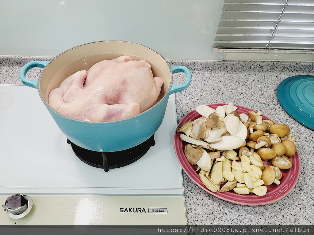
M 155 145 L 154 135 L 142 144 L 139 144 L 131 149 L 109 153 L 84 149 L 76 144 L 73 144 L 68 139 L 67 142 L 68 144 L 71 144 L 73 152 L 79 159 L 90 166 L 103 168 L 106 172 L 108 172 L 109 169 L 119 168 L 137 161 L 143 157 L 144 154 L 146 154 L 151 146 Z

